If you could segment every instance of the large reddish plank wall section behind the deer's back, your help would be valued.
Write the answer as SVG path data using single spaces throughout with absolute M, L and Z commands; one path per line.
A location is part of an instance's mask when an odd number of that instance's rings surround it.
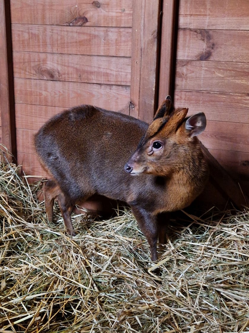
M 10 10 L 17 161 L 26 174 L 44 175 L 33 137 L 63 109 L 91 104 L 152 119 L 159 0 L 10 0 Z

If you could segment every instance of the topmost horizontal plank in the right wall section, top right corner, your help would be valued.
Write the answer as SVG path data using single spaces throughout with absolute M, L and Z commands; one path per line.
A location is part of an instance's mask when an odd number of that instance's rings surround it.
M 179 28 L 249 30 L 248 0 L 181 0 Z

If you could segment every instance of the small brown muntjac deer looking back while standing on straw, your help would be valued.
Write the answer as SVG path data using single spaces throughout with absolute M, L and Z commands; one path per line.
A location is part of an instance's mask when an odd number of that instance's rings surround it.
M 82 105 L 62 112 L 35 136 L 41 164 L 51 175 L 44 186 L 48 219 L 58 200 L 66 232 L 75 235 L 73 207 L 94 194 L 125 201 L 157 260 L 157 239 L 164 240 L 159 216 L 188 206 L 203 190 L 207 175 L 197 135 L 204 113 L 186 118 L 171 98 L 150 125 L 127 115 Z

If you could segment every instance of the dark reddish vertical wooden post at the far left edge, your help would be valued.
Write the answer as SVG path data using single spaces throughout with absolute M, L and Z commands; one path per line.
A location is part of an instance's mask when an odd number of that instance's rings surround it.
M 1 143 L 12 153 L 16 161 L 15 103 L 9 0 L 0 0 L 0 50 Z M 12 160 L 12 157 L 8 157 L 8 159 Z

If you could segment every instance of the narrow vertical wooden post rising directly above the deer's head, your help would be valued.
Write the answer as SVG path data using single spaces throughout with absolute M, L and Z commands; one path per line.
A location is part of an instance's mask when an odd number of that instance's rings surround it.
M 175 45 L 175 16 L 176 1 L 164 0 L 162 8 L 161 27 L 161 50 L 160 50 L 160 73 L 159 73 L 159 95 L 160 105 L 167 95 L 173 98 L 174 94 L 174 49 Z

